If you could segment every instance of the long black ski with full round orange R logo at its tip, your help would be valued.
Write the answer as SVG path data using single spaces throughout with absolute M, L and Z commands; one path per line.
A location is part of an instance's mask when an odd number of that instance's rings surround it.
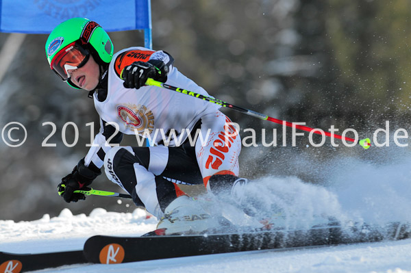
M 92 263 L 127 263 L 196 255 L 266 249 L 293 249 L 361 242 L 379 242 L 411 237 L 408 224 L 392 223 L 383 228 L 362 226 L 343 232 L 341 226 L 309 230 L 258 231 L 251 233 L 160 235 L 114 237 L 97 235 L 84 244 L 84 255 Z

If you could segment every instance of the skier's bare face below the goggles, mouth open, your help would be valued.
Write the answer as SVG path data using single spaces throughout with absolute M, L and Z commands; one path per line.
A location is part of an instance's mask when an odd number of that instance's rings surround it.
M 76 86 L 88 91 L 94 90 L 99 83 L 100 68 L 91 55 L 84 66 L 69 69 L 67 73 L 69 73 L 71 81 Z

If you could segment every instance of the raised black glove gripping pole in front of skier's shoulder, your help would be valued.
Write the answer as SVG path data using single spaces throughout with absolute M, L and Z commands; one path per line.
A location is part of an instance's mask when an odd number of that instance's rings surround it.
M 148 78 L 165 83 L 169 74 L 169 66 L 160 60 L 149 60 L 149 62 L 134 62 L 126 66 L 121 79 L 124 79 L 125 88 L 140 88 L 145 85 Z

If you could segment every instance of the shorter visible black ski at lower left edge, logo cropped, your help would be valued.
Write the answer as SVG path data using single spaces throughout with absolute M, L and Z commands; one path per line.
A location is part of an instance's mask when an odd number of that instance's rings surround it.
M 88 263 L 83 250 L 33 254 L 0 252 L 0 273 L 20 273 L 77 263 Z

